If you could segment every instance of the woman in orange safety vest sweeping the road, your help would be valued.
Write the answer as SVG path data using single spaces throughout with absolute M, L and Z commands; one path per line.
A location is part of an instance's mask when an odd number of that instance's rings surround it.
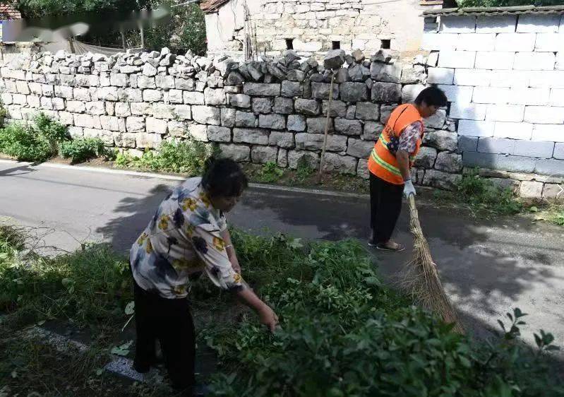
M 423 118 L 447 105 L 442 90 L 428 87 L 413 104 L 394 109 L 368 158 L 370 171 L 371 238 L 368 245 L 386 251 L 403 251 L 392 232 L 402 211 L 402 192 L 415 195 L 410 169 L 424 134 Z

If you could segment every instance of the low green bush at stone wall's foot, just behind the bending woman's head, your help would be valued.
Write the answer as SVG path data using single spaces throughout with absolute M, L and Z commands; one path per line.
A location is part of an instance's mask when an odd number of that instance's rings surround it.
M 218 153 L 217 146 L 193 139 L 179 142 L 164 141 L 157 150 L 145 152 L 140 158 L 120 154 L 115 164 L 140 170 L 198 175 L 203 172 L 205 160 L 210 155 Z

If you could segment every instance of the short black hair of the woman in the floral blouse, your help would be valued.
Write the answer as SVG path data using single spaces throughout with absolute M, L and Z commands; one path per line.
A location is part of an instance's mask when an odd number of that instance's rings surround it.
M 229 158 L 205 160 L 202 186 L 212 197 L 240 196 L 248 179 L 239 164 Z

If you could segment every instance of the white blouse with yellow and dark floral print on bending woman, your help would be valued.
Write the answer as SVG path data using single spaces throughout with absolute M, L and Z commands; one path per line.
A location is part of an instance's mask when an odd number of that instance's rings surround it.
M 226 228 L 225 216 L 212 207 L 201 178 L 186 180 L 162 201 L 133 243 L 133 278 L 143 290 L 169 299 L 186 297 L 191 280 L 203 271 L 224 290 L 244 288 L 220 236 Z

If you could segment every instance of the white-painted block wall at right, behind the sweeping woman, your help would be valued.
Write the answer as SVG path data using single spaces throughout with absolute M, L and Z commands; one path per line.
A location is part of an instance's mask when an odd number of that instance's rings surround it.
M 464 165 L 553 197 L 564 176 L 564 17 L 426 18 L 428 83 L 445 90 Z M 499 179 L 502 178 L 502 179 Z M 516 182 L 515 182 L 516 181 Z

